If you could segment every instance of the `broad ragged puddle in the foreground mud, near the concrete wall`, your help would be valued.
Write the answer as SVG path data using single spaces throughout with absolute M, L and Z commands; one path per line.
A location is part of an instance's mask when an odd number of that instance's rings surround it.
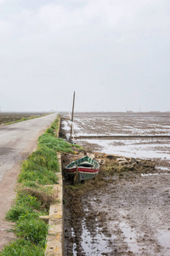
M 102 233 L 99 226 L 94 232 L 90 232 L 82 220 L 82 249 L 86 255 L 101 255 L 103 253 L 112 253 L 114 246 L 114 236 L 107 237 Z M 77 255 L 74 253 L 74 255 Z

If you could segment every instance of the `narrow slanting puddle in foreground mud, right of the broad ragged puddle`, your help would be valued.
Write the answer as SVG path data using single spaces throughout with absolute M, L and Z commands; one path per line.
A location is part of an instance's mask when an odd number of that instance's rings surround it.
M 127 246 L 130 248 L 130 250 L 133 253 L 139 252 L 139 246 L 137 245 L 137 239 L 135 232 L 126 224 L 125 222 L 121 222 L 120 228 L 123 232 L 123 235 L 125 236 L 125 241 L 127 242 Z

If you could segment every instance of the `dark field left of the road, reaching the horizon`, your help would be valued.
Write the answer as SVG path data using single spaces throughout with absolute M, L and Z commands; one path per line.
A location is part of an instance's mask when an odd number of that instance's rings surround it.
M 44 113 L 17 113 L 17 112 L 0 112 L 0 125 L 5 125 L 9 122 L 18 121 L 20 119 L 28 119 L 36 116 L 42 116 Z

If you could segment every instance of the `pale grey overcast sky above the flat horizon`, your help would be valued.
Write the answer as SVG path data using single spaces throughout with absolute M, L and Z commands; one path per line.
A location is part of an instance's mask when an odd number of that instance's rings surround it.
M 0 84 L 2 111 L 168 111 L 170 1 L 0 0 Z

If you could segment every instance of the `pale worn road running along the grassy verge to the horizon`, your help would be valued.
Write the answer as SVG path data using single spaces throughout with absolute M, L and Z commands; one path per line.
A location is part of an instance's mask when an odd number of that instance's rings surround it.
M 14 200 L 14 188 L 20 172 L 20 164 L 37 147 L 37 137 L 56 118 L 56 113 L 0 127 L 0 250 L 14 239 L 5 221 L 5 212 Z

